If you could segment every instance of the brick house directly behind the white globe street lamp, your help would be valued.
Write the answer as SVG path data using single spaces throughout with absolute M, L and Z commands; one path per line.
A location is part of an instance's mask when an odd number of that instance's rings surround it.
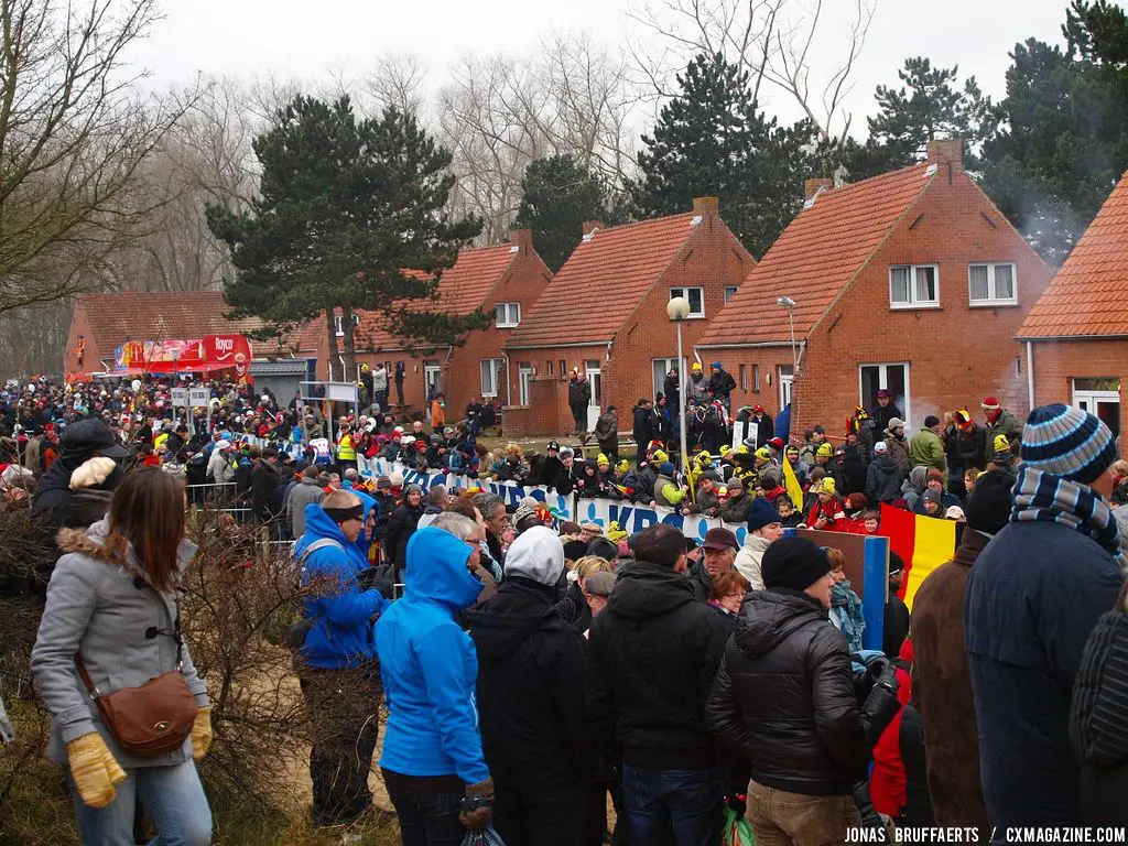
M 629 431 L 629 409 L 662 389 L 677 361 L 667 302 L 675 296 L 690 302 L 682 327 L 688 358 L 755 264 L 715 197 L 695 200 L 686 214 L 610 228 L 585 223 L 582 241 L 505 345 L 513 398 L 506 432 L 571 430 L 573 368 L 592 384 L 589 429 L 600 407 L 614 405 L 619 430 Z

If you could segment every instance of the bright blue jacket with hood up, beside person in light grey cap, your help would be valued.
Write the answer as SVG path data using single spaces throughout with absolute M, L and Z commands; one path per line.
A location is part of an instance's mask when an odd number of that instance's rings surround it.
M 482 591 L 466 569 L 470 552 L 448 531 L 418 529 L 407 541 L 404 598 L 376 624 L 388 699 L 380 766 L 393 773 L 466 784 L 490 777 L 474 699 L 477 653 L 455 622 Z

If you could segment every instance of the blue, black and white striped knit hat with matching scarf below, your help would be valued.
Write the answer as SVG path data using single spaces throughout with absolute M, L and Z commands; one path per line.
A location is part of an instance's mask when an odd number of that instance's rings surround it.
M 1117 460 L 1112 432 L 1098 417 L 1061 403 L 1034 408 L 1022 430 L 1022 461 L 1091 484 Z

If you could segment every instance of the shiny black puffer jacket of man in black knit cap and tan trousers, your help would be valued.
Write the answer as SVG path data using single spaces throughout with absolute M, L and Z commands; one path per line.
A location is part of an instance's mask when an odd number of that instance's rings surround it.
M 754 591 L 705 706 L 710 730 L 768 787 L 847 796 L 900 707 L 874 687 L 858 708 L 849 650 L 827 611 L 799 591 Z

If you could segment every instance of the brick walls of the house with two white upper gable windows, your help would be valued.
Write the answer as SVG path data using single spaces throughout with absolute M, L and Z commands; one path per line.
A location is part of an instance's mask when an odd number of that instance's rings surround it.
M 978 262 L 1015 264 L 1016 306 L 969 306 L 968 265 Z M 890 308 L 889 267 L 900 264 L 940 266 L 940 308 Z M 1013 336 L 1050 276 L 1049 268 L 964 173 L 953 169 L 949 179 L 948 169 L 942 169 L 808 338 L 794 384 L 793 435 L 816 423 L 831 433 L 844 430 L 860 402 L 862 364 L 909 365 L 913 428 L 919 428 L 928 414 L 942 416 L 962 406 L 978 411 L 988 395 L 999 397 L 1023 417 L 1028 411 L 1025 354 Z M 781 309 L 781 323 L 786 319 Z M 723 352 L 734 377 L 730 360 L 749 367 L 759 363 L 761 379 L 777 365 L 790 364 L 792 358 L 790 346 L 713 352 Z M 778 390 L 761 387 L 755 395 L 738 389 L 734 400 L 777 409 Z

